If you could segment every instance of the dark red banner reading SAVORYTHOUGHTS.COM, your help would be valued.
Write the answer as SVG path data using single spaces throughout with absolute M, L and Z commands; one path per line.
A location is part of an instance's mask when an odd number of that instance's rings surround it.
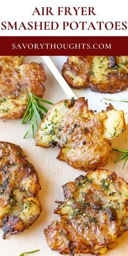
M 128 36 L 1 36 L 0 55 L 128 55 Z

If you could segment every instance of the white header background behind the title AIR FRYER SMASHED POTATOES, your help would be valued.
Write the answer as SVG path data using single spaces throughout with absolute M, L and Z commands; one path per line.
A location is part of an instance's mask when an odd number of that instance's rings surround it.
M 42 15 L 32 15 L 35 8 L 38 8 L 40 13 L 42 12 L 42 7 L 46 11 L 45 7 L 52 7 L 53 15 L 42 16 Z M 70 7 L 71 15 L 65 16 L 65 9 L 63 8 L 62 15 L 57 16 L 57 7 Z M 81 11 L 78 12 L 78 15 L 75 15 L 73 7 L 94 7 L 94 12 L 96 15 L 87 15 L 81 16 Z M 59 28 L 57 30 L 50 30 L 51 24 L 47 25 L 49 30 L 2 30 L 0 29 L 0 36 L 128 36 L 128 18 L 127 18 L 127 0 L 4 0 L 1 2 L 0 9 L 0 23 L 11 22 L 13 25 L 17 22 L 17 28 L 24 22 L 25 26 L 28 22 L 57 22 L 59 23 Z M 81 10 L 81 9 L 79 9 Z M 72 28 L 75 28 L 75 23 L 78 22 L 79 27 L 76 30 L 72 30 L 69 25 L 65 24 L 65 30 L 63 30 L 63 22 L 72 23 Z M 81 23 L 80 23 L 81 22 Z M 85 30 L 82 30 L 82 23 L 85 24 Z M 87 30 L 89 23 L 93 22 L 94 25 L 97 22 L 120 22 L 120 28 L 122 22 L 127 22 L 127 29 L 125 30 L 106 30 L 104 25 L 102 25 L 103 30 L 98 30 L 98 25 L 95 25 L 97 30 L 92 29 L 91 27 Z M 1 25 L 2 27 L 2 25 Z M 8 26 L 7 26 L 8 27 Z M 108 28 L 111 26 L 108 25 Z M 4 27 L 3 27 L 4 28 Z M 119 26 L 118 26 L 119 28 Z

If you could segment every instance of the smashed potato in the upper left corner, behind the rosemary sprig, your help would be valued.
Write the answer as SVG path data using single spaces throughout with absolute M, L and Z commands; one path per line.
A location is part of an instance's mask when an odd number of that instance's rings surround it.
M 29 90 L 42 98 L 46 73 L 42 63 L 22 64 L 23 56 L 0 57 L 0 118 L 23 117 Z

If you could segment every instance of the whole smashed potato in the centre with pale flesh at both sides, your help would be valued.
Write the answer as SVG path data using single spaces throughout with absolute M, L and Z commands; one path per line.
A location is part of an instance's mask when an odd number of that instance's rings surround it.
M 57 159 L 80 170 L 104 167 L 113 150 L 111 140 L 125 130 L 123 111 L 110 105 L 95 114 L 87 100 L 62 100 L 43 118 L 36 134 L 36 145 L 59 145 Z

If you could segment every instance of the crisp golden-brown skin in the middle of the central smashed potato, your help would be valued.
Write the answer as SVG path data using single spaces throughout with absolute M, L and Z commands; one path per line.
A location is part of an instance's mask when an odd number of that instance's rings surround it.
M 104 167 L 113 148 L 103 136 L 104 126 L 98 115 L 88 111 L 87 100 L 79 98 L 65 114 L 60 126 L 62 130 L 57 132 L 60 145 L 57 159 L 85 171 Z

